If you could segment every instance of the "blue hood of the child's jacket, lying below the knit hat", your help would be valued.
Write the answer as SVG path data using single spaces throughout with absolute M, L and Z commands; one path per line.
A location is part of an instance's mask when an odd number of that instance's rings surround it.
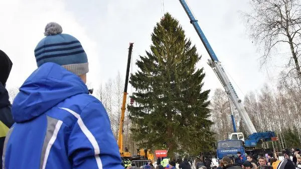
M 33 119 L 64 99 L 89 93 L 79 76 L 59 64 L 47 62 L 37 68 L 23 83 L 12 106 L 16 122 Z

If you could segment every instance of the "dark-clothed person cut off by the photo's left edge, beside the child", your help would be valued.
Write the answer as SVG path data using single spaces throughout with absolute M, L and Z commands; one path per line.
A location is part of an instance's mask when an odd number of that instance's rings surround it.
M 0 155 L 3 154 L 3 146 L 9 128 L 14 124 L 11 111 L 11 102 L 9 92 L 6 89 L 6 82 L 10 76 L 13 62 L 10 57 L 0 50 Z M 2 167 L 2 158 L 0 158 L 0 168 Z

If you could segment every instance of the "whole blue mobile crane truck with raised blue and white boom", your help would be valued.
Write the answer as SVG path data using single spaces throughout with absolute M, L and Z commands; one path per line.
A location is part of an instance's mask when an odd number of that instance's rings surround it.
M 275 133 L 273 131 L 266 131 L 266 132 L 257 132 L 246 109 L 243 106 L 241 99 L 238 97 L 231 81 L 229 80 L 221 62 L 218 60 L 216 54 L 214 53 L 212 47 L 209 44 L 205 34 L 203 33 L 201 27 L 198 24 L 198 20 L 193 15 L 191 9 L 189 8 L 186 0 L 180 0 L 183 8 L 185 9 L 190 23 L 194 26 L 195 30 L 197 31 L 199 37 L 201 38 L 209 56 L 211 59 L 208 59 L 208 64 L 212 67 L 213 71 L 217 75 L 218 79 L 222 83 L 223 87 L 225 88 L 228 97 L 231 98 L 232 102 L 234 103 L 239 115 L 244 122 L 244 125 L 249 132 L 246 138 L 244 138 L 242 132 L 237 132 L 236 125 L 234 121 L 233 113 L 231 113 L 232 123 L 234 132 L 229 134 L 229 139 L 218 141 L 217 146 L 217 155 L 218 158 L 222 158 L 224 155 L 232 156 L 237 153 L 237 151 L 244 152 L 242 145 L 245 149 L 255 149 L 257 143 L 261 141 L 271 141 L 276 139 Z

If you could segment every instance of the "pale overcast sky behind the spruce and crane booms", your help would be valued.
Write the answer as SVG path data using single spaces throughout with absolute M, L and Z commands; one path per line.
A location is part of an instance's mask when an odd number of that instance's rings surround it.
M 241 98 L 262 87 L 277 73 L 259 69 L 259 56 L 248 38 L 239 10 L 248 11 L 249 0 L 187 0 L 217 57 Z M 205 88 L 222 87 L 209 65 L 201 40 L 178 0 L 1 0 L 0 48 L 14 65 L 7 87 L 19 87 L 37 68 L 34 48 L 44 37 L 44 27 L 56 21 L 63 33 L 78 38 L 88 54 L 88 81 L 96 88 L 118 71 L 125 76 L 129 42 L 133 60 L 149 50 L 150 33 L 164 12 L 180 21 L 186 36 L 202 54 Z M 134 64 L 132 64 L 134 65 Z M 133 67 L 133 71 L 136 67 Z M 275 72 L 269 68 L 269 72 Z

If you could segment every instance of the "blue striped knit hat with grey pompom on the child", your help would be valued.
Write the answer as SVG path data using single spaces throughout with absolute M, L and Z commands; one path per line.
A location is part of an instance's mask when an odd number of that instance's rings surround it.
M 62 33 L 61 25 L 50 22 L 45 27 L 45 36 L 35 49 L 38 67 L 46 62 L 62 65 L 76 75 L 89 71 L 88 58 L 81 43 L 70 34 Z

